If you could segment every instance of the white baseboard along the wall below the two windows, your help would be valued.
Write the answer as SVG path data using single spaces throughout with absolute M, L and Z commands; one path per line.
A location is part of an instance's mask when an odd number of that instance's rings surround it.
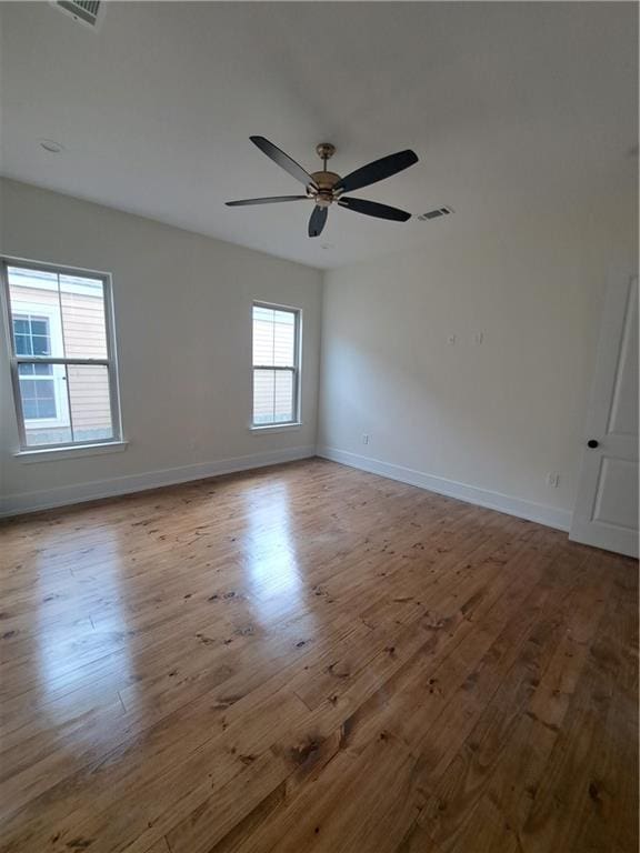
M 193 480 L 206 480 L 210 476 L 232 474 L 236 471 L 249 471 L 253 468 L 278 465 L 282 462 L 294 462 L 316 455 L 314 446 L 288 448 L 264 453 L 251 453 L 247 456 L 222 459 L 217 462 L 203 462 L 182 468 L 168 468 L 160 471 L 148 471 L 144 474 L 118 476 L 111 480 L 94 480 L 89 483 L 64 485 L 46 491 L 12 494 L 0 499 L 0 518 L 21 515 L 56 506 L 68 506 L 84 501 L 96 501 L 101 498 L 116 498 L 120 494 L 143 492 L 147 489 L 158 489 L 163 485 L 189 483 Z

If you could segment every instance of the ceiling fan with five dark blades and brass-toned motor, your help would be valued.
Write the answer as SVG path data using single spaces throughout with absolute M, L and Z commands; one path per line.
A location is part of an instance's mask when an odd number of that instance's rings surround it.
M 346 178 L 341 178 L 336 172 L 327 171 L 327 160 L 336 153 L 336 147 L 330 142 L 322 142 L 317 145 L 316 151 L 322 160 L 323 169 L 319 172 L 307 172 L 292 160 L 289 154 L 281 151 L 264 137 L 249 137 L 251 142 L 257 145 L 262 153 L 267 154 L 274 163 L 289 174 L 293 175 L 300 183 L 304 184 L 304 195 L 273 195 L 267 199 L 242 199 L 241 201 L 228 201 L 230 208 L 244 204 L 278 204 L 282 201 L 303 201 L 314 202 L 314 208 L 309 220 L 309 237 L 319 237 L 322 233 L 330 205 L 336 202 L 339 207 L 347 210 L 353 210 L 356 213 L 364 213 L 368 217 L 378 219 L 390 219 L 394 222 L 407 222 L 411 219 L 411 213 L 398 208 L 390 208 L 388 204 L 379 204 L 376 201 L 366 199 L 352 199 L 344 197 L 343 193 L 360 190 L 362 187 L 369 187 L 371 183 L 390 178 L 392 174 L 408 169 L 418 162 L 416 153 L 411 150 L 399 151 L 397 154 L 389 154 L 380 160 L 374 160 L 361 169 L 357 169 Z

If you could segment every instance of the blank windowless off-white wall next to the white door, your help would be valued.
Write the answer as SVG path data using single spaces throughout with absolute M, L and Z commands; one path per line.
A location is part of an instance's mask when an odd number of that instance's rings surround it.
M 637 262 L 636 185 L 628 160 L 599 198 L 459 211 L 422 248 L 327 273 L 320 451 L 568 528 L 608 268 Z

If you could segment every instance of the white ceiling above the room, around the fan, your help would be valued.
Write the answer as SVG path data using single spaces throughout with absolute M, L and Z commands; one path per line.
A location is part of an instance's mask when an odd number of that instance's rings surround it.
M 634 3 L 118 2 L 99 31 L 1 3 L 2 172 L 313 267 L 434 239 L 500 207 L 597 192 L 637 134 Z M 249 141 L 341 174 L 412 148 L 353 193 L 446 221 L 224 201 L 301 185 Z M 64 145 L 46 153 L 41 138 Z

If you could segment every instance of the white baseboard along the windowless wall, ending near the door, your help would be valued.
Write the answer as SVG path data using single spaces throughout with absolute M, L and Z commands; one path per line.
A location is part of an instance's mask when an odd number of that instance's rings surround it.
M 361 456 L 358 453 L 350 453 L 337 448 L 318 446 L 317 455 L 329 459 L 332 462 L 340 462 L 343 465 L 358 468 L 361 471 L 368 471 L 380 476 L 388 476 L 390 480 L 399 480 L 401 483 L 417 485 L 419 489 L 426 489 L 429 492 L 444 494 L 448 498 L 456 498 L 459 501 L 474 503 L 479 506 L 487 506 L 490 510 L 506 512 L 508 515 L 517 515 L 520 519 L 536 521 L 548 528 L 568 531 L 571 526 L 571 512 L 561 510 L 557 506 L 549 506 L 543 503 L 526 501 L 522 498 L 513 498 L 501 492 L 492 492 L 487 489 L 479 489 L 468 483 L 459 483 L 456 480 L 447 480 L 442 476 L 434 476 L 422 471 L 414 471 L 411 468 L 394 465 L 390 462 L 381 462 L 378 459 Z

